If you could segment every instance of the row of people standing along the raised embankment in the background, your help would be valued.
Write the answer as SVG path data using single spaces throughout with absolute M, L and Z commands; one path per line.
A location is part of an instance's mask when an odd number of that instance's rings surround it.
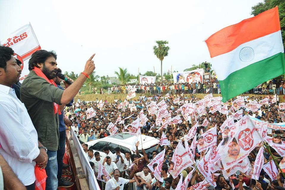
M 138 93 L 146 95 L 155 94 L 220 94 L 220 84 L 215 78 L 203 79 L 202 82 L 196 83 L 172 83 L 169 81 L 156 82 L 154 84 L 126 84 L 113 85 L 106 89 L 108 94 L 127 94 L 132 88 L 136 88 Z M 104 94 L 104 88 L 99 88 L 99 93 Z M 92 88 L 93 94 L 97 94 L 97 88 Z M 99 94 L 98 93 L 98 94 Z M 247 94 L 277 94 L 285 95 L 285 81 L 281 79 L 273 79 L 262 83 L 255 88 L 246 91 Z

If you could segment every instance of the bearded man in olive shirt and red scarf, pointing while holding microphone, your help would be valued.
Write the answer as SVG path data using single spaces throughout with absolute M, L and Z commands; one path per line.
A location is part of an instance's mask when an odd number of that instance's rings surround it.
M 30 73 L 21 86 L 21 101 L 25 104 L 37 130 L 39 142 L 47 148 L 46 190 L 56 190 L 58 187 L 58 115 L 61 114 L 62 107 L 74 98 L 86 78 L 94 71 L 95 64 L 92 61 L 94 56 L 95 54 L 87 60 L 83 72 L 65 90 L 57 88 L 52 80 L 58 69 L 56 53 L 38 50 L 29 60 Z

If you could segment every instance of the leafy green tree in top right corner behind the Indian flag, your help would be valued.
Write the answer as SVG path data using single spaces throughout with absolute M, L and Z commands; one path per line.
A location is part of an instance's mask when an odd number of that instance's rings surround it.
M 251 7 L 251 14 L 256 16 L 268 9 L 272 9 L 278 6 L 279 20 L 281 27 L 281 34 L 283 40 L 283 46 L 285 47 L 285 1 L 284 0 L 264 0 L 263 3 L 258 3 L 254 7 Z

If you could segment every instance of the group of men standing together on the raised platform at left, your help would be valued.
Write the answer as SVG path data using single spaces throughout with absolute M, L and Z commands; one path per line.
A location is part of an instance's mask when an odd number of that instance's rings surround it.
M 94 54 L 95 55 L 95 54 Z M 57 55 L 35 51 L 29 74 L 19 83 L 23 62 L 10 47 L 0 46 L 0 187 L 4 189 L 47 189 L 71 187 L 63 178 L 66 126 L 64 107 L 71 106 L 86 78 L 94 71 L 92 58 L 74 83 L 60 86 Z M 73 81 L 72 81 L 73 82 Z M 2 177 L 3 175 L 3 177 Z

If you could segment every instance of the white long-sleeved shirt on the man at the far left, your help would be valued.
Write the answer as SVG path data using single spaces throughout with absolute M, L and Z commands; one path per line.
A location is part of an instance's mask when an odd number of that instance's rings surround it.
M 35 182 L 33 160 L 39 155 L 38 134 L 14 89 L 0 85 L 0 154 L 25 185 Z

